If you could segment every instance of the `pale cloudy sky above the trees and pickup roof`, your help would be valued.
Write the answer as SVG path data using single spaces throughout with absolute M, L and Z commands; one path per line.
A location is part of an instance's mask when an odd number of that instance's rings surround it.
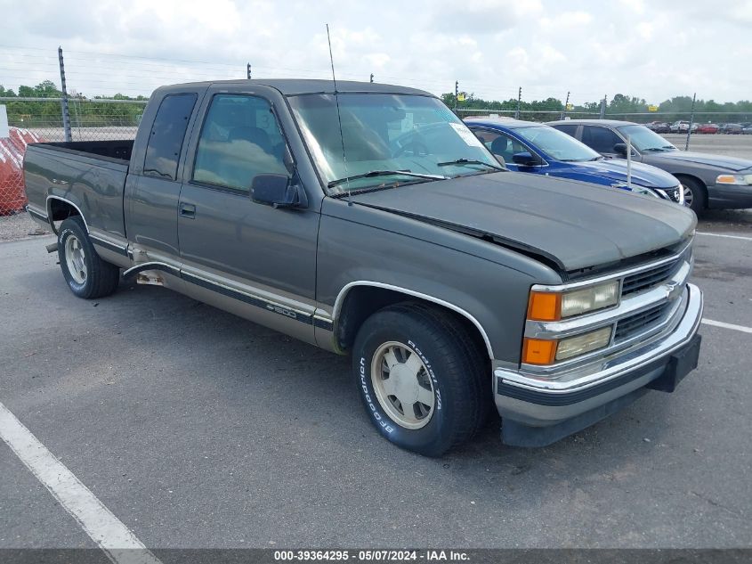
M 23 6 L 28 6 L 25 9 Z M 752 0 L 0 0 L 0 85 L 150 94 L 210 78 L 338 78 L 525 100 L 752 98 Z

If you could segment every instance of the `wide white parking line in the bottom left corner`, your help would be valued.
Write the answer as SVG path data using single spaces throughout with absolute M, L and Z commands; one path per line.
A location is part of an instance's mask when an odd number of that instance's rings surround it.
M 0 437 L 116 564 L 161 564 L 125 525 L 0 403 Z

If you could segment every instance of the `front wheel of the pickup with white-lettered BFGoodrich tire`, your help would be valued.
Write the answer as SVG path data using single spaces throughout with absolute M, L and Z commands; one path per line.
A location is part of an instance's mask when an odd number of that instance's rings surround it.
M 369 419 L 401 448 L 441 456 L 488 416 L 491 378 L 479 347 L 439 309 L 400 304 L 371 315 L 352 365 Z

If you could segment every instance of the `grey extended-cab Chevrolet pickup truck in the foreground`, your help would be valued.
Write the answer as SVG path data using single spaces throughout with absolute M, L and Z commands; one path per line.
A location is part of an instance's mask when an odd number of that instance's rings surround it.
M 548 445 L 697 365 L 691 210 L 506 171 L 419 90 L 166 86 L 135 141 L 32 144 L 24 177 L 74 294 L 123 276 L 351 355 L 421 454 L 494 404 L 506 444 Z

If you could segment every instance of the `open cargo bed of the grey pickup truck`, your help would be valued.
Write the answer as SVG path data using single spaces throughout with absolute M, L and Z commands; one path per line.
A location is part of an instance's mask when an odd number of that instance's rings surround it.
M 68 202 L 85 210 L 89 233 L 125 240 L 123 193 L 133 140 L 31 143 L 24 159 L 29 214 L 64 219 Z

